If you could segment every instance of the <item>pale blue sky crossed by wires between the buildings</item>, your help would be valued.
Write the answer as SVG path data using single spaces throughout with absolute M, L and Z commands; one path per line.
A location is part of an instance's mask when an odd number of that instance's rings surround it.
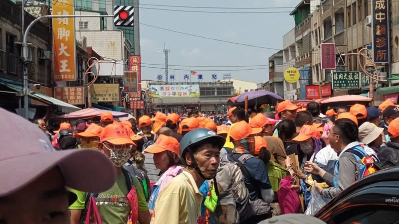
M 141 0 L 140 23 L 172 29 L 180 32 L 200 36 L 256 45 L 268 48 L 282 48 L 282 36 L 294 27 L 294 18 L 289 12 L 298 4 L 299 0 Z M 244 3 L 244 4 L 243 4 Z M 289 7 L 264 9 L 210 9 L 151 6 L 144 4 L 164 4 L 181 6 L 204 7 Z M 285 11 L 282 13 L 203 13 L 164 11 L 148 8 L 167 8 L 196 11 Z M 175 81 L 184 81 L 184 74 L 191 70 L 203 74 L 203 81 L 211 81 L 211 74 L 217 74 L 221 79 L 223 73 L 231 73 L 232 78 L 247 80 L 255 83 L 266 82 L 268 69 L 252 71 L 226 71 L 226 69 L 265 68 L 268 57 L 277 50 L 263 49 L 208 40 L 161 30 L 146 25 L 140 25 L 140 44 L 142 56 L 142 79 L 155 80 L 157 75 L 163 75 L 165 55 L 157 52 L 164 48 L 169 52 L 169 74 L 175 74 Z M 162 65 L 148 65 L 162 64 Z M 172 65 L 193 65 L 193 67 L 177 67 Z M 266 65 L 259 67 L 228 67 L 228 68 L 200 68 L 196 66 L 236 66 L 236 65 Z M 177 70 L 184 69 L 184 71 Z M 199 71 L 224 70 L 224 71 Z M 197 80 L 197 79 L 196 79 Z M 194 77 L 193 77 L 194 81 Z

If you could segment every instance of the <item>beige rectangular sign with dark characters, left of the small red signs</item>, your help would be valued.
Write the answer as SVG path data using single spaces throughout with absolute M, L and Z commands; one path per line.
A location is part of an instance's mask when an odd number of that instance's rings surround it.
M 91 98 L 97 102 L 118 102 L 119 84 L 93 84 L 90 93 Z

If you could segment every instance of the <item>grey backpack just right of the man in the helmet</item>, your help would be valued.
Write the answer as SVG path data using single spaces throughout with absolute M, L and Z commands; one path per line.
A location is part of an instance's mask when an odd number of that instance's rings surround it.
M 249 199 L 243 180 L 243 175 L 248 171 L 243 164 L 251 157 L 244 154 L 234 162 L 229 161 L 227 155 L 221 158 L 216 172 L 219 202 L 214 213 L 219 223 L 239 224 L 254 216 L 270 214 L 270 206 L 266 202 Z

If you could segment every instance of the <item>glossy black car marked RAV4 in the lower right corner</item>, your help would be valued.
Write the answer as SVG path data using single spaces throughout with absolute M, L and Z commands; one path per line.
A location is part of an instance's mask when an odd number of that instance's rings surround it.
M 314 217 L 327 224 L 399 224 L 399 167 L 354 183 Z

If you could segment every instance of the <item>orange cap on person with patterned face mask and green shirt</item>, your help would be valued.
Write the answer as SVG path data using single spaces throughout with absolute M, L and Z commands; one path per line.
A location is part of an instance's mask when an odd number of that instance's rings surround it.
M 130 131 L 121 123 L 112 123 L 103 128 L 100 135 L 100 142 L 109 142 L 114 145 L 134 144 L 130 139 Z

